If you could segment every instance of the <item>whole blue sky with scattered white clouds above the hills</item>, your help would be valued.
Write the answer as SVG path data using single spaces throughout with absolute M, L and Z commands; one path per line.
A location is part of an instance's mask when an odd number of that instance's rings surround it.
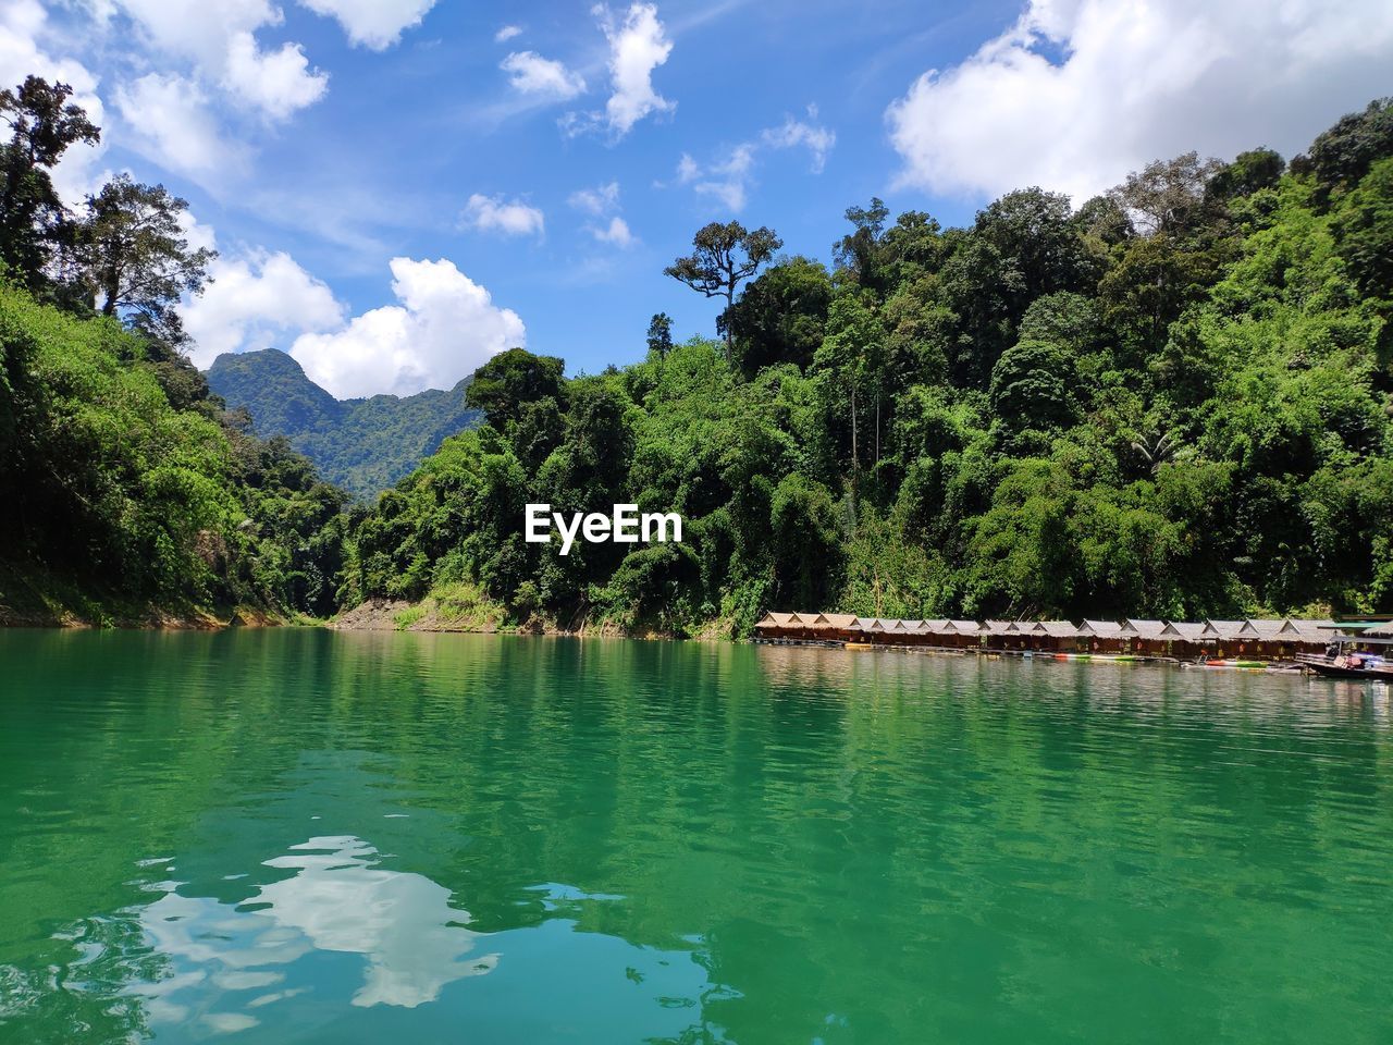
M 644 357 L 712 220 L 830 261 L 843 212 L 1075 206 L 1190 149 L 1286 156 L 1393 95 L 1386 0 L 0 0 L 0 84 L 103 128 L 56 174 L 189 202 L 191 357 L 277 347 L 338 397 L 451 387 L 515 344 Z

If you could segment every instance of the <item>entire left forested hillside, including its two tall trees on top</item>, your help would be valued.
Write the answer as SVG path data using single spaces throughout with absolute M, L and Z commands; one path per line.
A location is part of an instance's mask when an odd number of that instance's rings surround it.
M 181 199 L 125 177 L 74 213 L 50 170 L 99 131 L 64 85 L 0 91 L 0 623 L 330 613 L 345 495 L 245 431 L 188 362 Z

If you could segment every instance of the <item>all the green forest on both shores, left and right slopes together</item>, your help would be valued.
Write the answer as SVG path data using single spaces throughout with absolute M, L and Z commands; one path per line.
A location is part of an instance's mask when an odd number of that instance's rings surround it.
M 117 180 L 71 213 L 47 171 L 98 128 L 33 78 L 0 116 L 10 619 L 1393 609 L 1393 100 L 1290 160 L 1158 160 L 1077 208 L 1022 188 L 946 229 L 872 199 L 830 263 L 709 224 L 667 274 L 723 305 L 716 337 L 659 314 L 642 362 L 573 378 L 503 353 L 465 389 L 483 424 L 371 507 L 187 362 L 174 305 L 210 258 L 182 201 Z M 529 502 L 678 511 L 684 541 L 561 557 L 524 541 Z

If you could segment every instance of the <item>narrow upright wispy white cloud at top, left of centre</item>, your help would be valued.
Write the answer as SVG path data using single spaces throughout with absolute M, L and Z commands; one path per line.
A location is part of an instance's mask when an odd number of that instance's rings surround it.
M 667 61 L 673 43 L 657 21 L 655 4 L 630 4 L 623 22 L 617 22 L 605 4 L 591 11 L 599 18 L 609 40 L 613 93 L 603 113 L 568 113 L 561 128 L 574 135 L 603 125 L 612 138 L 618 139 L 645 116 L 677 109 L 676 102 L 669 102 L 653 89 L 653 70 Z

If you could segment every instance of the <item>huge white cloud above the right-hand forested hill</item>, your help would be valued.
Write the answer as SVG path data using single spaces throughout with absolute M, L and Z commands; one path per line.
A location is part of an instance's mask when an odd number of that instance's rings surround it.
M 886 120 L 900 184 L 1039 184 L 1082 202 L 1190 149 L 1291 155 L 1387 93 L 1390 64 L 1385 0 L 1031 0 L 965 61 L 919 77 Z

